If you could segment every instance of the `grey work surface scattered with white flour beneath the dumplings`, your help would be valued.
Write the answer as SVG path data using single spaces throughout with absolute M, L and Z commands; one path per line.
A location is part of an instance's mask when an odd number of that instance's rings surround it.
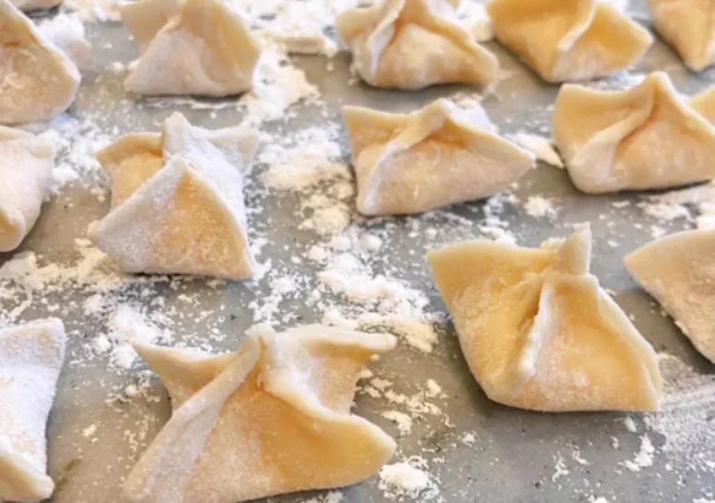
M 644 22 L 640 7 L 631 10 Z M 243 97 L 240 110 L 237 99 L 134 102 L 122 88 L 122 64 L 136 57 L 124 27 L 88 29 L 92 67 L 70 114 L 52 125 L 61 146 L 56 193 L 21 250 L 0 255 L 1 322 L 58 316 L 67 326 L 68 355 L 48 431 L 53 502 L 121 501 L 124 477 L 167 420 L 167 396 L 128 341 L 227 351 L 259 322 L 337 323 L 400 339 L 395 351 L 369 364 L 354 408 L 395 436 L 398 454 L 357 487 L 278 501 L 715 498 L 714 368 L 621 265 L 623 255 L 656 235 L 709 225 L 714 190 L 659 200 L 591 197 L 565 171 L 540 162 L 513 192 L 487 201 L 365 220 L 355 213 L 340 106 L 407 112 L 437 97 L 468 99 L 471 89 L 371 89 L 348 84 L 347 56 L 294 57 L 286 65 L 271 53 L 259 95 Z M 558 87 L 543 84 L 498 44 L 488 47 L 503 67 L 498 97 L 483 101 L 491 119 L 506 135 L 548 137 Z M 656 41 L 638 67 L 593 86 L 627 87 L 653 70 L 668 72 L 689 94 L 715 82 L 715 70 L 689 74 Z M 125 132 L 157 130 L 174 110 L 210 128 L 250 116 L 262 132 L 246 189 L 251 242 L 262 264 L 255 280 L 126 278 L 84 241 L 87 225 L 109 207 L 92 150 Z M 536 246 L 584 221 L 593 228 L 593 273 L 662 355 L 661 414 L 534 414 L 494 404 L 445 321 L 426 250 L 480 236 Z

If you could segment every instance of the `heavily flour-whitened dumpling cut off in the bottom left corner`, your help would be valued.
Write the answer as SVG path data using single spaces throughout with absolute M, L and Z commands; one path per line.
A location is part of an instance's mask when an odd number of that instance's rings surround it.
M 0 328 L 0 501 L 49 498 L 45 429 L 64 361 L 56 319 Z

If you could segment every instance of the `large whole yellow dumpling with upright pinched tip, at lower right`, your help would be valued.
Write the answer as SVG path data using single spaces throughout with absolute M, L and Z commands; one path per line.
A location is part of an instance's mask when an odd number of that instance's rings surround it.
M 475 240 L 428 253 L 487 396 L 536 411 L 654 411 L 656 353 L 588 273 L 591 230 L 541 248 Z

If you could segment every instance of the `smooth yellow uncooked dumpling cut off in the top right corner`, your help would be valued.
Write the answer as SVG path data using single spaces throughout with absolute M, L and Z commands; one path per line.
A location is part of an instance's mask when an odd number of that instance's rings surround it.
M 683 59 L 700 72 L 715 62 L 715 2 L 712 0 L 649 0 L 656 31 Z

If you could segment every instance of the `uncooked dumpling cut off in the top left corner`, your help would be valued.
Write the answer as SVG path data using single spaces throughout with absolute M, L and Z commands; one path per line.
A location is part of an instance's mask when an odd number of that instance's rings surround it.
M 74 101 L 77 65 L 9 0 L 0 0 L 0 124 L 49 120 Z

